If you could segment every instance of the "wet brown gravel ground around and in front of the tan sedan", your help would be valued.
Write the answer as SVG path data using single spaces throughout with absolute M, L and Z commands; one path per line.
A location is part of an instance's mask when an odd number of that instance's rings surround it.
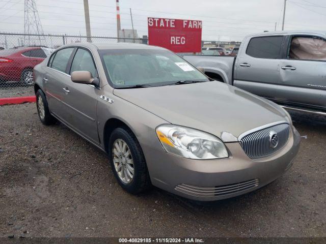
M 35 104 L 0 107 L 0 237 L 321 237 L 326 233 L 326 118 L 291 113 L 294 166 L 240 197 L 197 204 L 159 189 L 124 192 L 103 153 Z

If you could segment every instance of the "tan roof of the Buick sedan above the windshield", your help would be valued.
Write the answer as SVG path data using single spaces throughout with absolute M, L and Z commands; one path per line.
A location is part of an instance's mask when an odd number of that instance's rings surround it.
M 67 46 L 84 46 L 84 47 L 97 47 L 100 50 L 105 49 L 165 49 L 162 47 L 157 46 L 150 46 L 146 44 L 137 44 L 137 43 L 126 43 L 126 42 L 119 42 L 119 43 L 73 43 L 66 45 Z

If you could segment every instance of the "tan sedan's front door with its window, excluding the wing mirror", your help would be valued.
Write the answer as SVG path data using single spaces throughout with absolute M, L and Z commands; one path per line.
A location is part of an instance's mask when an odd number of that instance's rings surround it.
M 68 69 L 69 75 L 73 71 L 89 71 L 94 78 L 98 78 L 93 55 L 86 48 L 79 47 L 76 50 Z M 69 90 L 64 97 L 65 110 L 69 114 L 67 123 L 79 134 L 99 144 L 96 104 L 100 96 L 100 87 L 73 83 L 71 79 L 64 80 L 64 87 Z

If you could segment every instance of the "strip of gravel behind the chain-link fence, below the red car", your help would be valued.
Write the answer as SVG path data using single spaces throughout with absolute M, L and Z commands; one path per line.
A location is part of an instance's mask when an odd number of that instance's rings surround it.
M 0 84 L 0 98 L 34 96 L 34 86 L 21 86 L 17 83 Z

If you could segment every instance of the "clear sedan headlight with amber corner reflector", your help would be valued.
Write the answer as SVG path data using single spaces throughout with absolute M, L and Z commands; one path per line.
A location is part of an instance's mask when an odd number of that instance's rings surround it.
M 156 134 L 162 146 L 170 154 L 188 159 L 221 159 L 229 154 L 217 137 L 191 128 L 161 125 Z

